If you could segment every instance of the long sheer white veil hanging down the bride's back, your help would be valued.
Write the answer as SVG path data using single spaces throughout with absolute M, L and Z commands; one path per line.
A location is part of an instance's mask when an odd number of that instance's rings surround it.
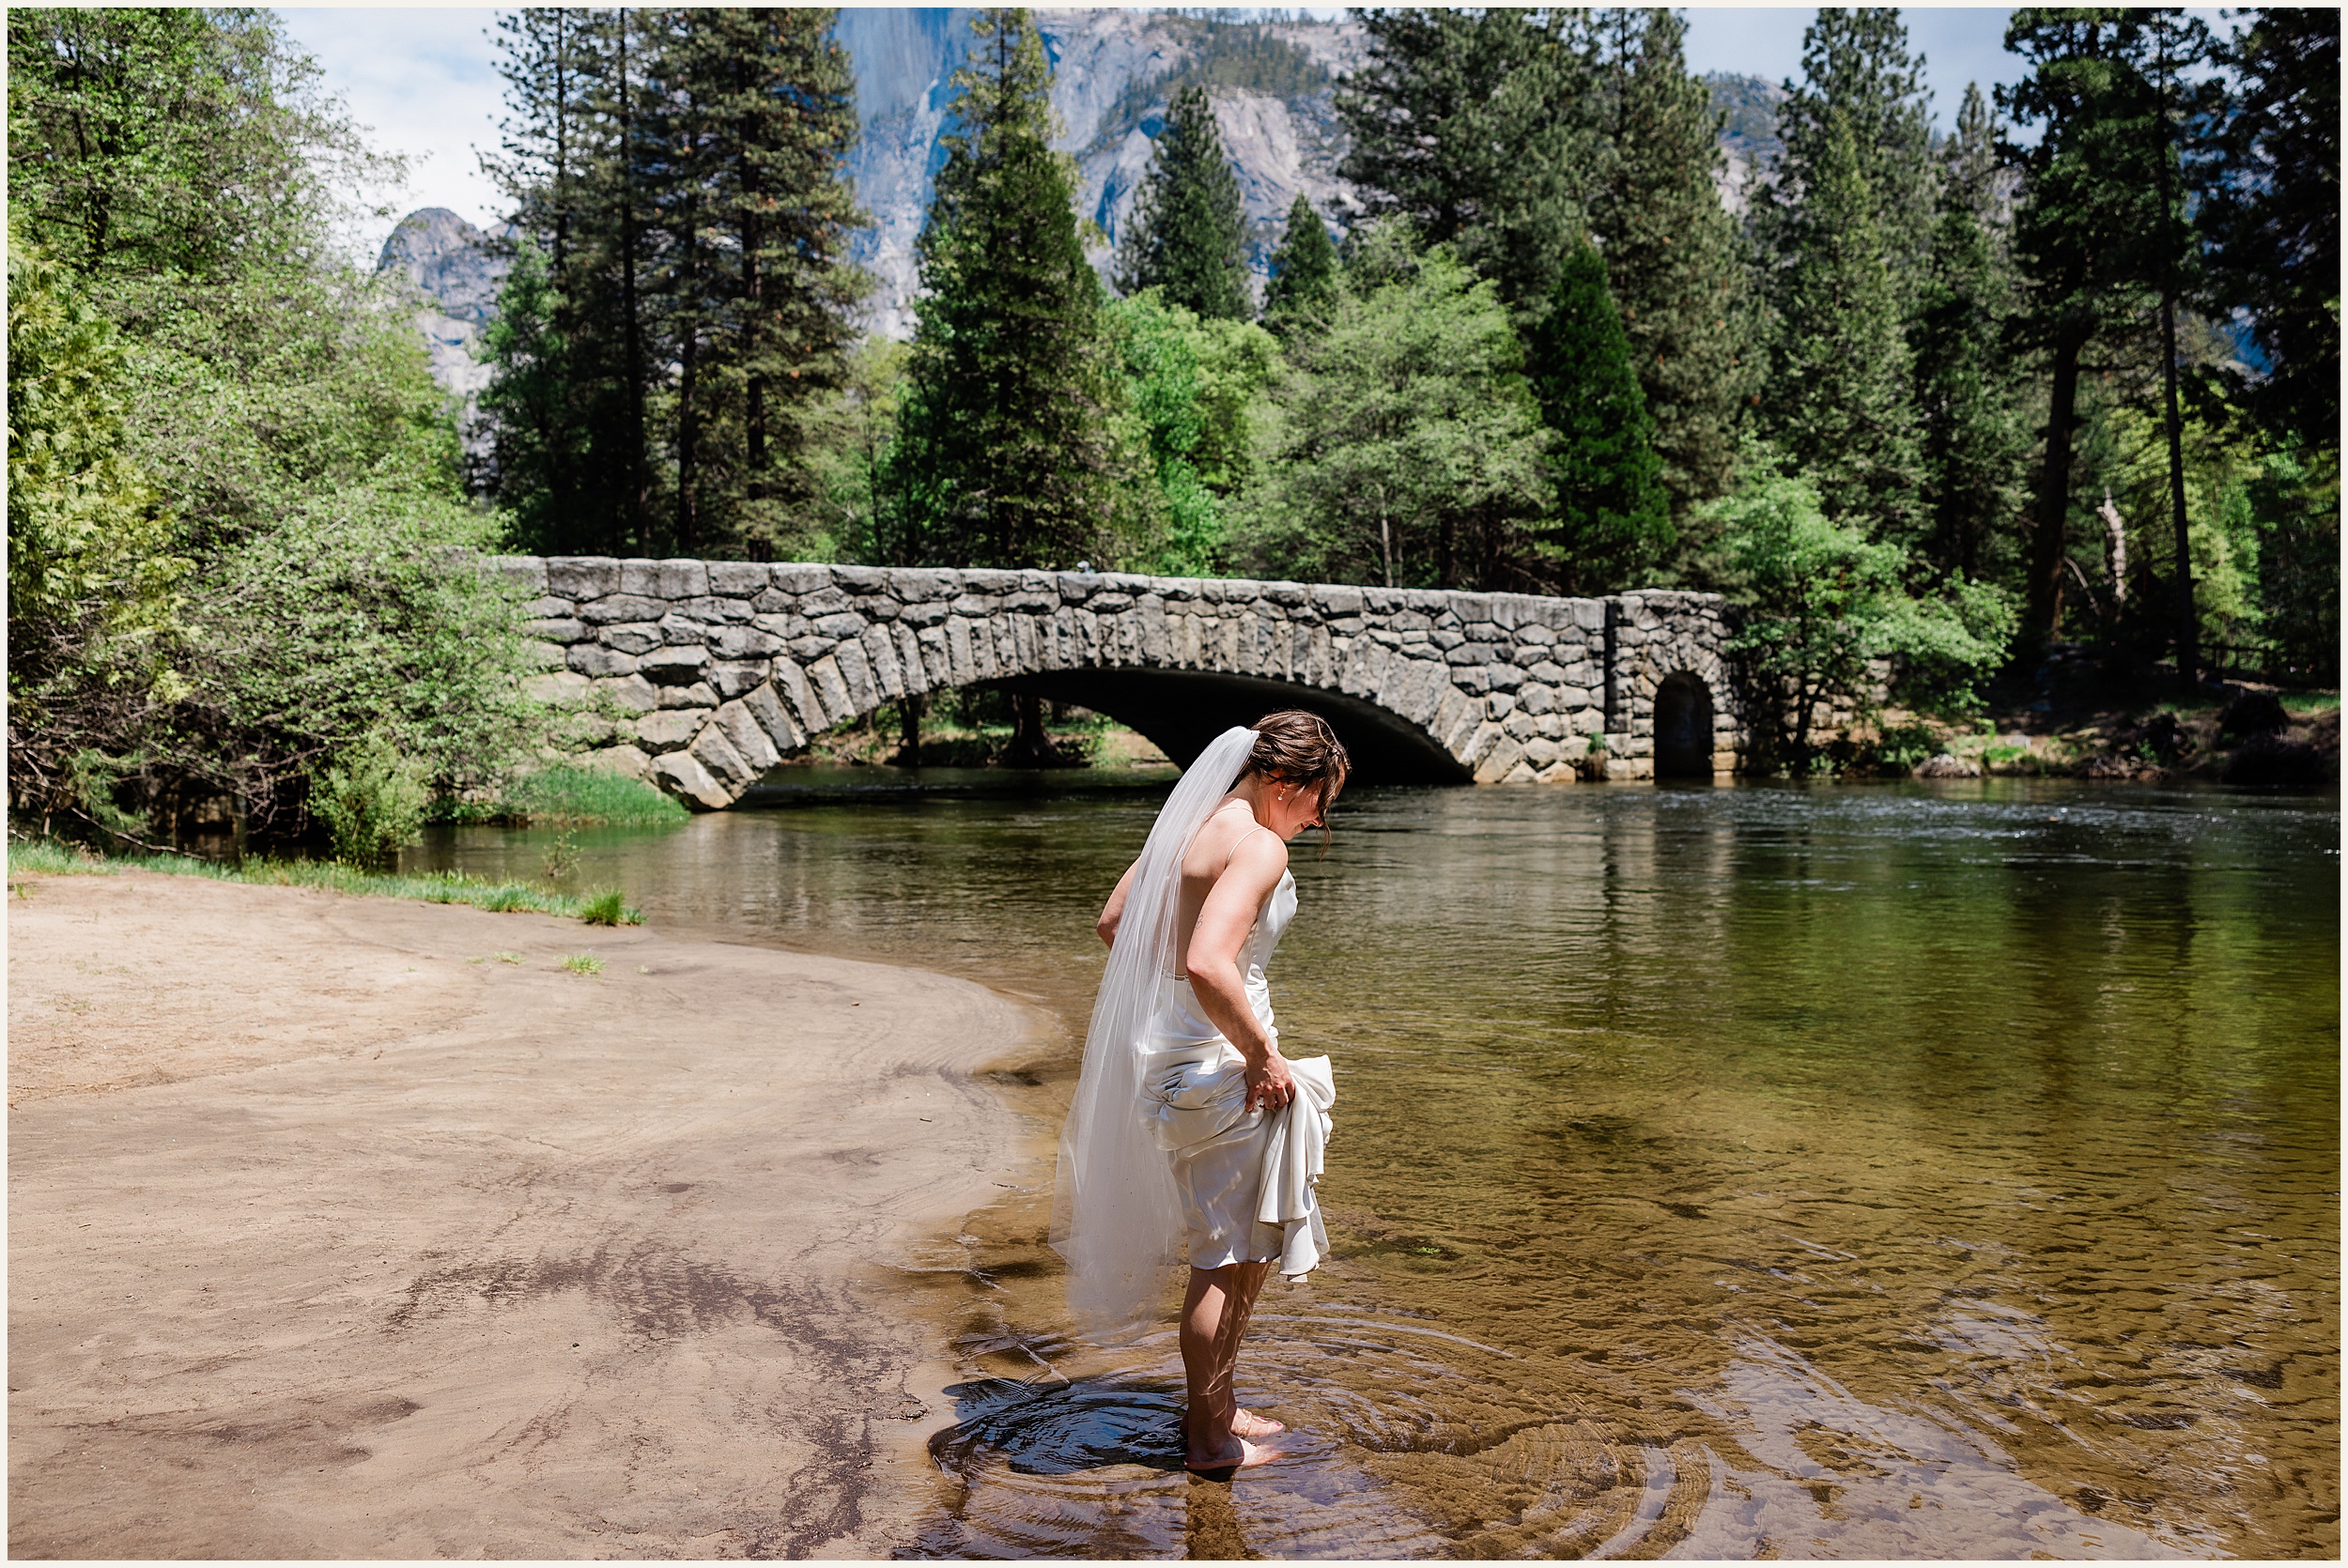
M 1223 730 L 1167 796 L 1134 861 L 1085 1030 L 1085 1070 L 1059 1136 L 1052 1246 L 1068 1261 L 1068 1310 L 1099 1340 L 1143 1329 L 1181 1263 L 1181 1195 L 1141 1115 L 1141 1056 L 1160 976 L 1183 972 L 1174 932 L 1181 857 L 1240 782 L 1254 744 L 1254 730 Z

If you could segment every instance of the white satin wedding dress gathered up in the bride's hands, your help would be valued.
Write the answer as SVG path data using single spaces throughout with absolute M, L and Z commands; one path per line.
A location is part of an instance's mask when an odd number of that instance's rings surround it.
M 1282 871 L 1244 948 L 1247 1005 L 1275 1045 L 1280 1028 L 1263 967 L 1294 918 L 1296 878 Z M 1277 1261 L 1296 1279 L 1329 1251 L 1315 1185 L 1336 1087 L 1327 1056 L 1291 1061 L 1289 1070 L 1296 1099 L 1249 1110 L 1247 1059 L 1207 1019 L 1186 974 L 1160 976 L 1141 1101 L 1158 1148 L 1174 1162 L 1190 1268 Z

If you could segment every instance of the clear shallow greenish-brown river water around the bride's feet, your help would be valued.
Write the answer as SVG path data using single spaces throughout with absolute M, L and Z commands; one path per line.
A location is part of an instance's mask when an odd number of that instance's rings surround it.
M 2339 1554 L 2336 796 L 1348 796 L 1273 967 L 1336 1256 L 1242 1357 L 1291 1458 L 1214 1486 L 1172 1333 L 1075 1343 L 1043 1246 L 1167 770 L 777 777 L 578 880 L 1035 1005 L 1026 1162 L 899 1261 L 967 1373 L 923 1554 Z

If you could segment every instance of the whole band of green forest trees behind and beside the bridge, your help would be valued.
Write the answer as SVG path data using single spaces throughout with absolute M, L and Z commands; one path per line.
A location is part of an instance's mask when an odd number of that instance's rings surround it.
M 1822 9 L 1782 87 L 1691 75 L 1660 9 L 1369 12 L 1336 80 L 1186 14 L 1099 127 L 989 9 L 911 343 L 859 326 L 829 12 L 498 26 L 467 465 L 331 244 L 383 160 L 268 14 L 9 14 L 12 810 L 493 789 L 561 739 L 448 570 L 500 547 L 1719 589 L 1796 753 L 1883 660 L 1946 709 L 2059 643 L 2336 681 L 2336 12 L 2019 9 L 1942 134 L 1892 9 Z M 1345 134 L 1261 296 L 1240 89 Z M 1064 148 L 1125 124 L 1104 258 Z

